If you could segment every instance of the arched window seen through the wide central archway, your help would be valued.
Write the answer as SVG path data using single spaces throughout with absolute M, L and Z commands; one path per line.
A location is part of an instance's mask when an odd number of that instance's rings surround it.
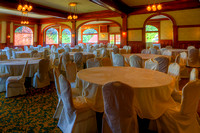
M 97 43 L 98 32 L 95 29 L 87 29 L 83 31 L 83 43 Z

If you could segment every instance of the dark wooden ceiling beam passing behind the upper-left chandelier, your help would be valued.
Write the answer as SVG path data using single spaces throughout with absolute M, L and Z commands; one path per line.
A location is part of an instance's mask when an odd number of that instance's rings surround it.
M 0 0 L 0 6 L 6 9 L 17 10 L 18 4 L 19 0 Z M 69 15 L 68 12 L 50 8 L 47 6 L 42 6 L 35 3 L 31 3 L 31 5 L 33 6 L 33 10 L 31 11 L 32 13 L 37 13 L 41 15 L 50 15 L 52 17 L 63 18 L 63 19 L 67 19 L 67 16 Z

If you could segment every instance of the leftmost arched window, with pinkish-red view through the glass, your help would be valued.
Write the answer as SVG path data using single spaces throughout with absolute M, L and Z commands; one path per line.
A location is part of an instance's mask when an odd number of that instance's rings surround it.
M 15 30 L 15 46 L 33 45 L 33 31 L 27 26 Z

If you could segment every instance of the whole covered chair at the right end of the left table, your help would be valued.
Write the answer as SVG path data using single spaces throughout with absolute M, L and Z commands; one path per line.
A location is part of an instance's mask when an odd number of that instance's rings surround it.
M 50 85 L 49 60 L 42 59 L 39 62 L 39 68 L 33 77 L 33 87 L 43 88 Z

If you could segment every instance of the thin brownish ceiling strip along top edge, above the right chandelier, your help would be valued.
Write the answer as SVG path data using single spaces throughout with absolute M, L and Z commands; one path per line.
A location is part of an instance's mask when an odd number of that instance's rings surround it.
M 175 0 L 122 0 L 122 1 L 129 6 L 140 6 L 140 5 L 153 4 L 154 1 L 158 3 L 159 1 L 169 2 L 169 1 L 175 1 Z

